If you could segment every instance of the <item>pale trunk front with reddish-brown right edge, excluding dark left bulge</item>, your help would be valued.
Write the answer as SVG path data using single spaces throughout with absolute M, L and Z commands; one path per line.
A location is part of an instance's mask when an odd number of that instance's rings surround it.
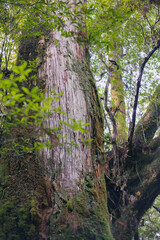
M 58 40 L 57 45 L 54 43 L 55 40 Z M 79 132 L 73 132 L 67 126 L 63 126 L 59 131 L 62 135 L 62 146 L 58 145 L 52 150 L 42 150 L 42 158 L 49 173 L 48 177 L 54 186 L 54 197 L 52 196 L 54 206 L 51 218 L 54 226 L 58 229 L 55 230 L 52 226 L 55 239 L 63 239 L 66 236 L 68 236 L 68 239 L 74 239 L 75 237 L 77 239 L 112 238 L 109 227 L 107 227 L 107 200 L 103 170 L 100 164 L 97 164 L 97 162 L 101 162 L 99 152 L 103 147 L 103 119 L 94 80 L 87 62 L 87 54 L 87 49 L 81 47 L 73 39 L 61 37 L 60 33 L 54 32 L 51 34 L 50 42 L 46 47 L 44 63 L 38 71 L 39 79 L 45 78 L 46 96 L 50 95 L 53 88 L 56 93 L 63 92 L 63 96 L 56 103 L 56 107 L 61 106 L 62 111 L 67 115 L 55 113 L 54 116 L 49 117 L 46 121 L 49 128 L 58 127 L 59 120 L 71 124 L 69 118 L 81 120 L 82 123 L 90 123 L 87 128 L 88 133 L 83 135 Z M 92 147 L 87 147 L 82 142 L 82 137 L 86 140 L 93 138 Z M 71 147 L 70 153 L 68 153 L 66 144 L 69 141 L 78 144 L 78 146 Z M 88 183 L 88 181 L 92 183 Z M 60 195 L 61 192 L 63 192 L 62 195 Z M 81 194 L 84 196 L 82 197 Z M 90 194 L 92 200 L 88 196 Z M 80 205 L 82 204 L 80 213 L 76 196 L 78 196 Z M 100 216 L 98 216 L 98 212 L 94 212 L 94 208 L 92 209 L 92 217 L 95 216 L 96 221 L 92 220 L 89 213 L 86 216 L 82 213 L 88 207 L 90 209 L 91 206 L 88 201 L 95 205 L 95 210 L 101 207 L 103 209 L 99 209 Z M 62 222 L 59 223 L 56 218 L 64 203 L 69 204 L 69 210 L 62 214 L 60 217 Z M 88 204 L 87 209 L 86 203 Z M 97 204 L 101 204 L 101 207 Z M 102 214 L 103 211 L 105 211 L 104 215 Z M 81 214 L 84 216 L 80 216 Z M 69 220 L 70 218 L 71 220 Z M 98 220 L 98 218 L 101 219 Z M 98 223 L 98 221 L 100 222 Z M 99 227 L 102 228 L 101 233 L 98 233 Z M 69 229 L 71 233 L 68 232 Z

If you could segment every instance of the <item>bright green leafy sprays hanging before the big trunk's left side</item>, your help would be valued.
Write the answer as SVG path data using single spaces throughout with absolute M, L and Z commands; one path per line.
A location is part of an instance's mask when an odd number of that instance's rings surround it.
M 33 64 L 32 64 L 33 65 Z M 53 102 L 58 101 L 63 93 L 56 94 L 53 89 L 50 97 L 46 98 L 44 92 L 37 86 L 31 89 L 27 87 L 26 82 L 31 78 L 33 68 L 27 67 L 27 62 L 20 66 L 13 67 L 13 73 L 9 78 L 0 75 L 0 127 L 5 134 L 10 135 L 16 129 L 25 129 L 25 132 L 31 132 L 28 136 L 22 135 L 20 139 L 12 139 L 12 148 L 21 148 L 23 151 L 31 151 L 34 149 L 41 149 L 42 147 L 55 147 L 60 144 L 60 139 L 63 137 L 60 134 L 60 129 L 63 125 L 71 128 L 73 131 L 80 131 L 81 134 L 87 133 L 85 127 L 89 123 L 82 124 L 81 120 L 76 121 L 71 118 L 70 123 L 59 121 L 59 126 L 52 129 L 45 124 L 45 119 L 48 115 L 63 114 L 61 107 L 53 108 Z M 32 76 L 33 78 L 33 76 Z M 26 85 L 26 86 L 25 86 Z M 28 130 L 27 130 L 28 129 Z M 20 131 L 21 131 L 20 130 Z M 54 141 L 46 139 L 41 141 L 40 136 L 48 135 L 53 137 Z M 21 135 L 21 134 L 19 134 Z M 34 139 L 34 143 L 32 144 Z M 82 139 L 87 145 L 92 139 Z M 7 140 L 4 140 L 4 145 Z M 68 146 L 75 143 L 68 142 Z M 3 148 L 2 151 L 8 150 Z

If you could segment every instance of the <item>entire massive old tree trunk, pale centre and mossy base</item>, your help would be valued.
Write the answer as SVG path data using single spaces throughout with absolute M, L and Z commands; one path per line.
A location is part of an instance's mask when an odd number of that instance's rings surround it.
M 67 30 L 74 30 L 69 27 Z M 76 30 L 75 30 L 76 31 Z M 58 40 L 58 44 L 57 44 Z M 43 128 L 50 129 L 42 141 L 56 143 L 51 149 L 24 153 L 9 150 L 1 156 L 1 239 L 112 239 L 109 229 L 106 188 L 102 168 L 103 118 L 87 46 L 58 31 L 49 40 L 23 39 L 19 59 L 38 56 L 38 80 L 47 96 L 63 92 Z M 81 134 L 67 124 L 90 123 Z M 65 124 L 63 125 L 63 122 Z M 62 123 L 62 127 L 60 126 Z M 67 123 L 67 124 L 66 124 Z M 59 127 L 57 132 L 52 128 Z M 10 136 L 32 138 L 33 129 L 14 129 Z M 57 140 L 57 134 L 62 137 Z M 92 146 L 85 140 L 93 138 Z M 34 142 L 34 137 L 33 137 Z M 68 148 L 68 144 L 72 146 Z M 74 143 L 74 144 L 73 144 Z M 31 143 L 33 144 L 33 143 Z

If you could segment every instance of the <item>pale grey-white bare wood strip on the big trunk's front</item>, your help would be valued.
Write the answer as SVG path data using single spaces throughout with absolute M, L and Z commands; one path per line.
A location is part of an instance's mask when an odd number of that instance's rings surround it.
M 59 121 L 72 124 L 69 118 L 91 124 L 87 106 L 91 90 L 87 86 L 85 74 L 85 67 L 87 67 L 85 49 L 77 42 L 61 37 L 58 32 L 53 33 L 51 38 L 46 48 L 44 63 L 39 68 L 38 77 L 40 80 L 45 79 L 47 97 L 53 89 L 56 93 L 63 92 L 56 106 L 53 103 L 53 108 L 60 106 L 66 115 L 55 113 L 47 119 L 46 124 L 49 128 L 59 127 Z M 57 45 L 54 44 L 55 40 L 59 41 Z M 80 179 L 83 182 L 82 174 L 85 176 L 87 172 L 92 171 L 91 148 L 86 147 L 82 142 L 82 137 L 91 138 L 91 125 L 87 130 L 88 134 L 83 136 L 80 132 L 73 132 L 72 129 L 63 125 L 59 131 L 63 146 L 56 146 L 52 151 L 47 149 L 42 151 L 43 158 L 50 159 L 54 163 L 52 171 L 58 171 L 60 167 L 58 176 L 60 185 L 68 189 L 68 192 L 78 189 L 77 182 L 80 182 Z M 52 139 L 49 140 L 52 141 Z M 78 146 L 72 146 L 68 153 L 67 143 L 70 141 L 74 141 Z

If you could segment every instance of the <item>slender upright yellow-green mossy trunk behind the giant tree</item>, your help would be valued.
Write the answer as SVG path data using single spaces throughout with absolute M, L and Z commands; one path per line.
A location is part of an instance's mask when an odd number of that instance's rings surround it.
M 122 68 L 120 66 L 121 47 L 114 43 L 114 50 L 109 52 L 109 82 L 111 85 L 111 107 L 109 111 L 115 120 L 115 125 L 112 126 L 116 132 L 115 141 L 123 144 L 127 140 L 127 124 L 126 124 L 126 108 L 125 108 L 125 92 L 122 81 Z M 111 120 L 111 119 L 110 119 Z M 113 125 L 113 120 L 111 120 Z

